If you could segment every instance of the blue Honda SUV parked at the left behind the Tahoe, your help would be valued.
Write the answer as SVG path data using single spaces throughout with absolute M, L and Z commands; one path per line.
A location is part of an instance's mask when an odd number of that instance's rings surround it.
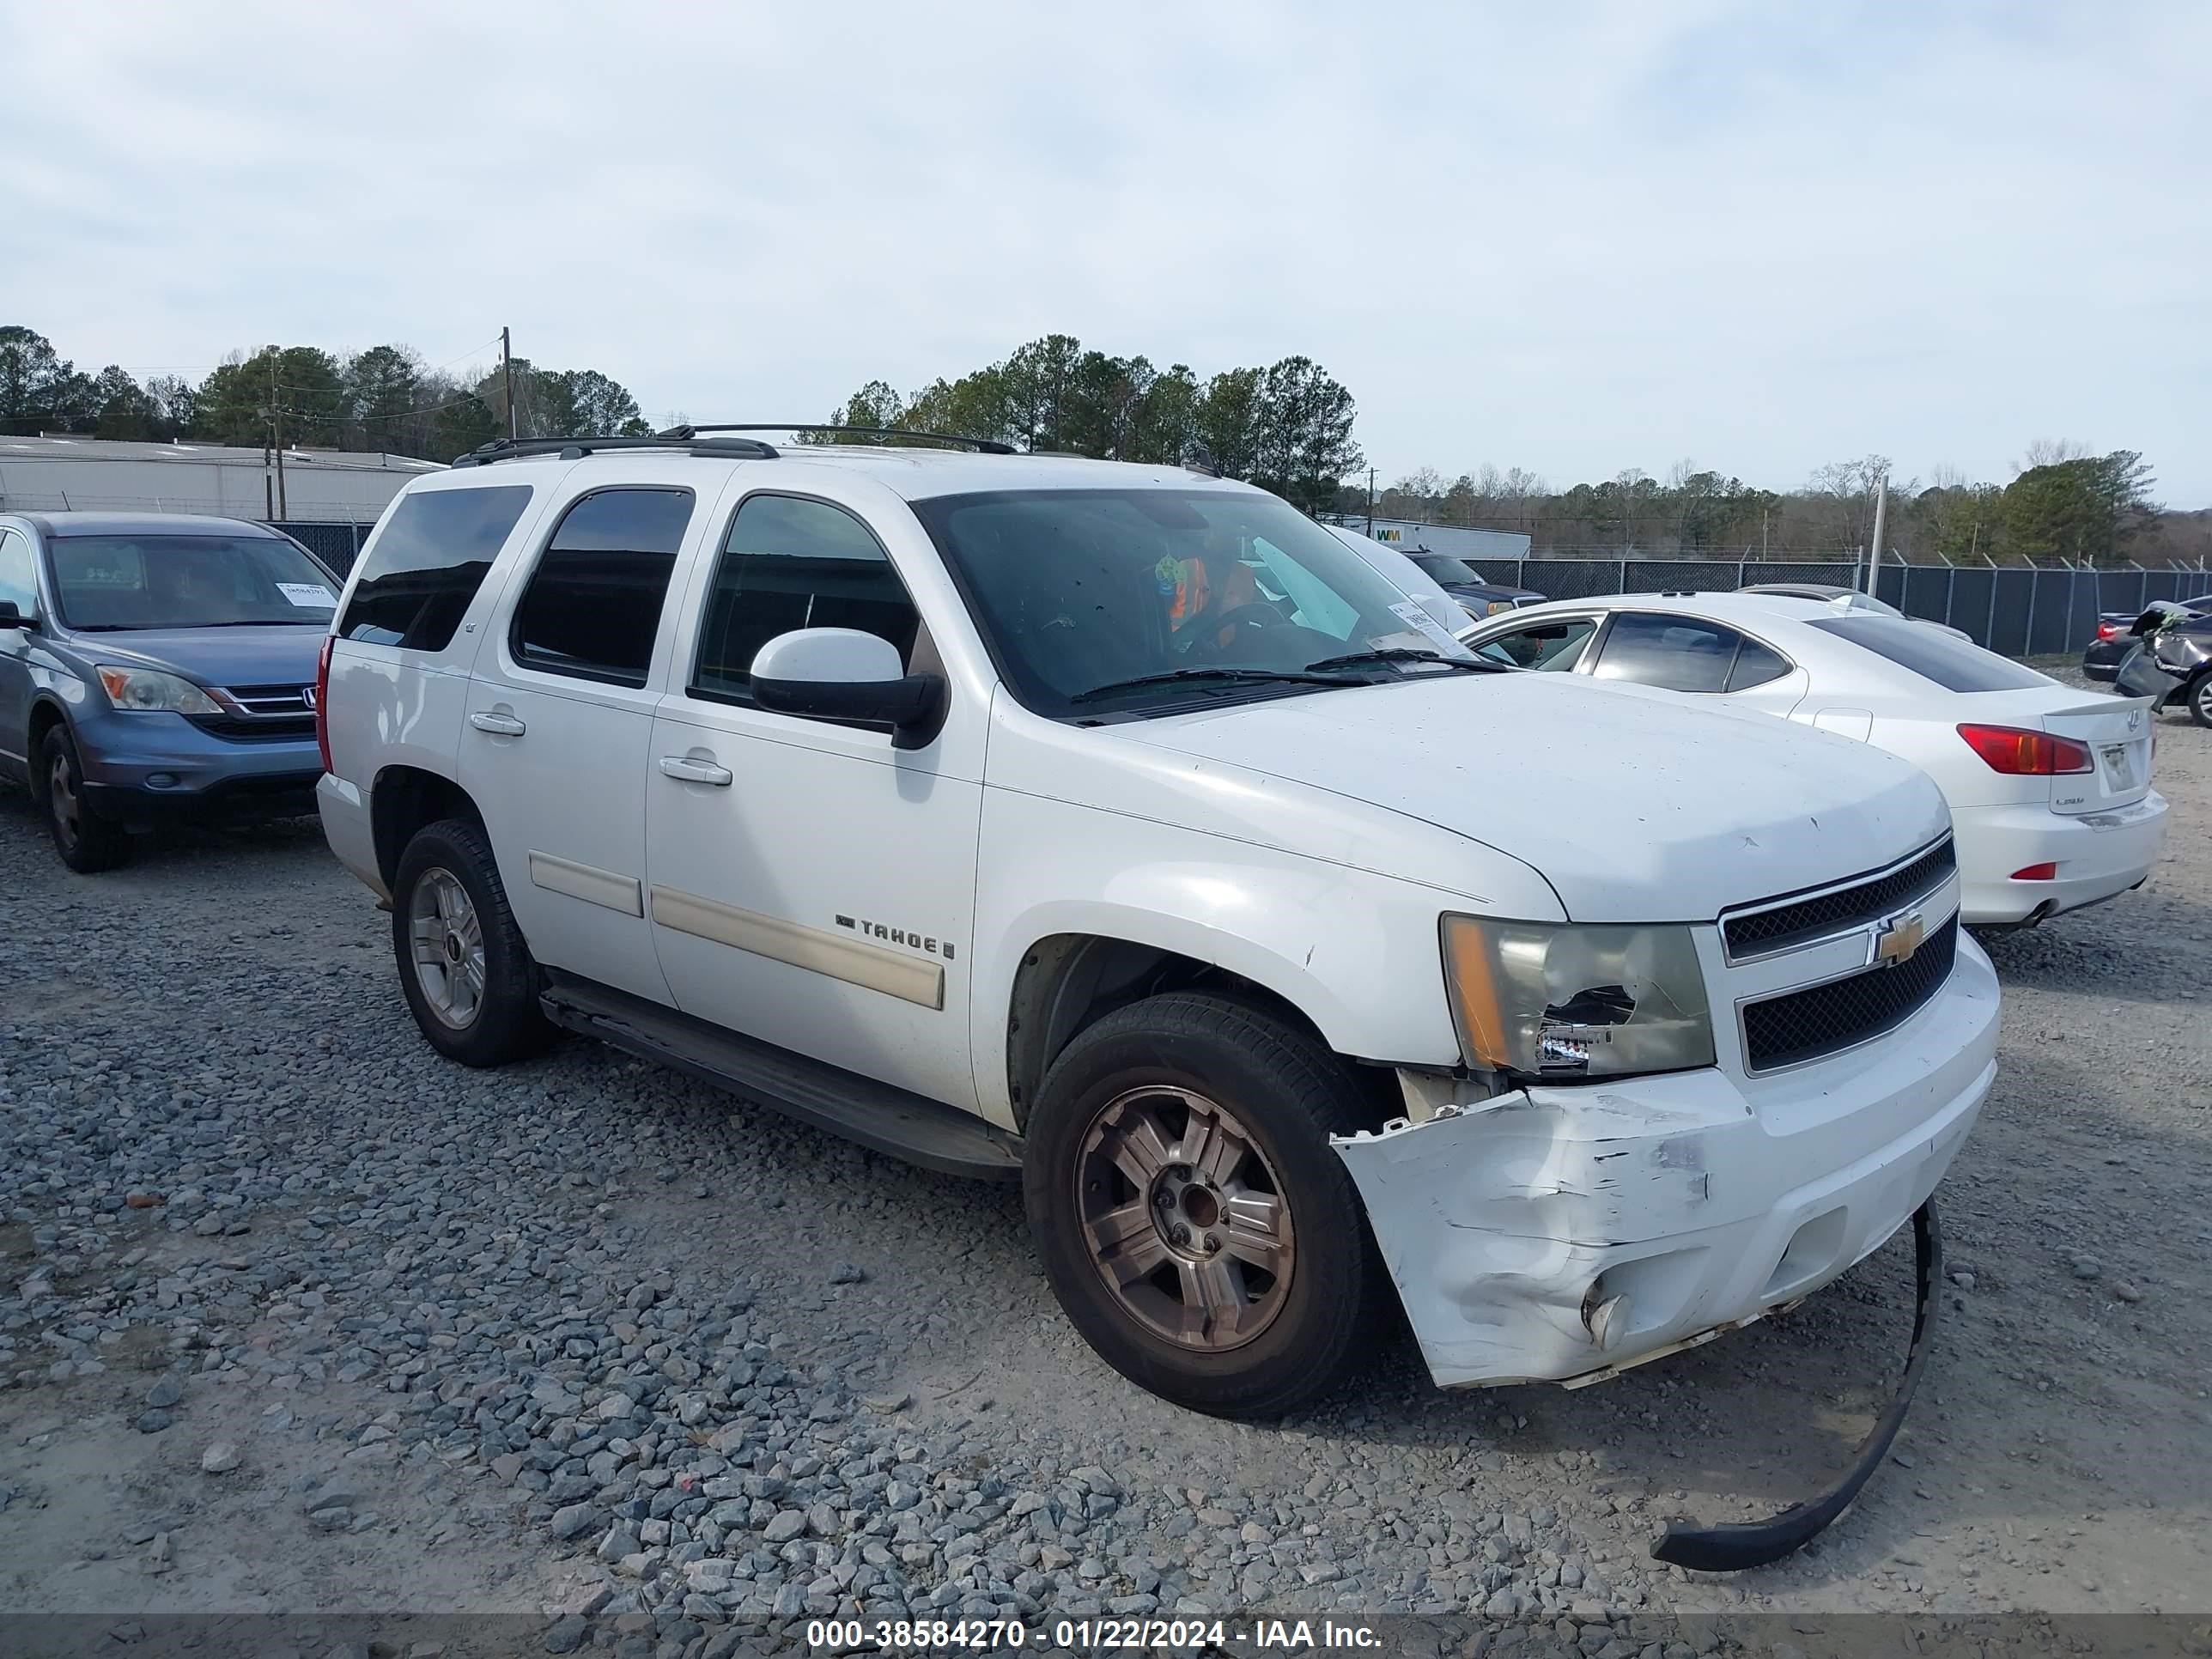
M 341 582 L 290 535 L 188 513 L 0 513 L 0 772 L 71 869 L 177 816 L 314 812 Z

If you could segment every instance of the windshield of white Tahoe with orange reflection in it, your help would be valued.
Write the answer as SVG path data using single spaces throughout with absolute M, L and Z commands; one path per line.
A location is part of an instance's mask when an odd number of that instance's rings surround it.
M 1420 602 L 1259 491 L 1000 491 L 918 500 L 914 511 L 1000 675 L 1040 714 L 1321 692 L 1332 681 L 1267 675 L 1369 650 L 1467 659 Z M 1449 670 L 1376 661 L 1329 672 L 1367 684 Z M 1139 679 L 1150 684 L 1124 684 Z

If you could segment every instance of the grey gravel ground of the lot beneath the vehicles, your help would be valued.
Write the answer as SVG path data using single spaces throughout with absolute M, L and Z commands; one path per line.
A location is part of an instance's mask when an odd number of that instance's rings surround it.
M 2201 1613 L 2212 732 L 2166 717 L 2159 785 L 2148 887 L 1991 945 L 2002 1073 L 1896 1462 L 1734 1579 L 1648 1537 L 1843 1462 L 1907 1241 L 1577 1394 L 1442 1396 L 1400 1349 L 1223 1425 L 1091 1356 L 1011 1190 L 584 1042 L 440 1062 L 312 823 L 80 878 L 0 787 L 0 1608 L 588 1610 L 551 1644 L 641 1652 L 854 1601 L 1482 1608 L 1626 1655 L 1668 1613 Z

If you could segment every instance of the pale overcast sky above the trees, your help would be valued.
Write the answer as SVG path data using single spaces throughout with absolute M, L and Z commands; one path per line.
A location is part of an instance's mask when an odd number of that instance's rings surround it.
M 1540 15 L 1542 13 L 1542 15 Z M 2212 7 L 0 0 L 0 323 L 816 418 L 1305 354 L 1391 480 L 2141 449 L 2212 504 Z

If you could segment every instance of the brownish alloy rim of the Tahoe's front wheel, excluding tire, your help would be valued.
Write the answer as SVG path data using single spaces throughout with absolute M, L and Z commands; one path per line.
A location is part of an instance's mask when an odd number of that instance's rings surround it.
M 1283 1312 L 1290 1201 L 1219 1102 L 1170 1086 L 1115 1095 L 1084 1133 L 1075 1208 L 1108 1292 L 1170 1343 L 1228 1352 Z

